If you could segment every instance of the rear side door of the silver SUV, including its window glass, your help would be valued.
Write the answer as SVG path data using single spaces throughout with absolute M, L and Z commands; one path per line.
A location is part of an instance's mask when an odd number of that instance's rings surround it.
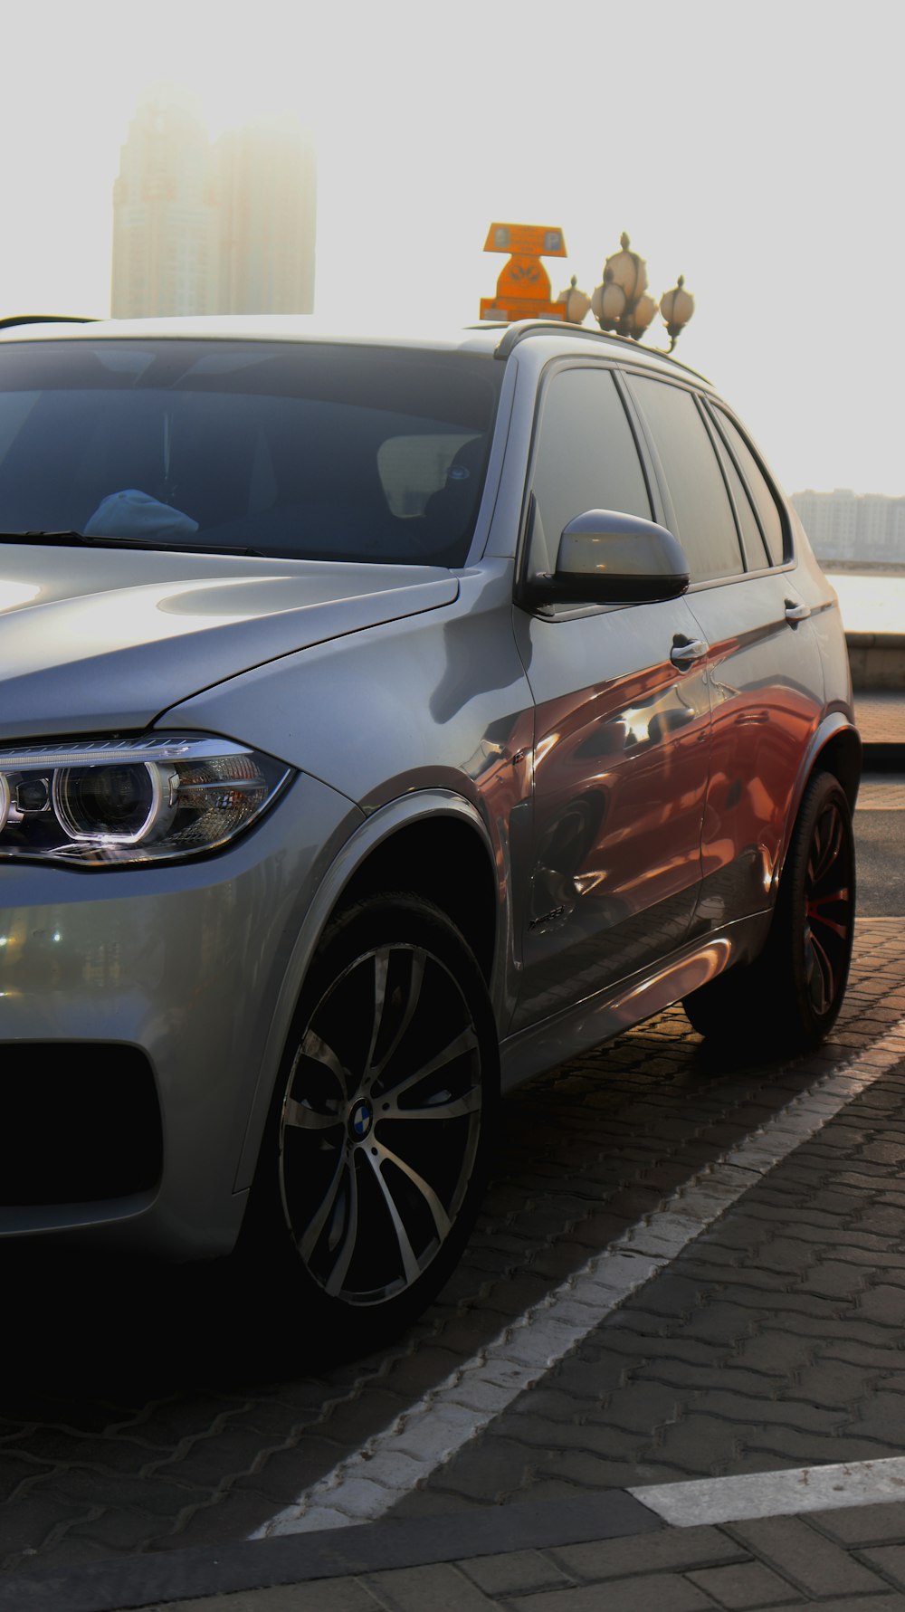
M 713 735 L 697 933 L 769 906 L 823 672 L 782 503 L 739 427 L 689 387 L 632 376 L 631 390 L 707 643 Z

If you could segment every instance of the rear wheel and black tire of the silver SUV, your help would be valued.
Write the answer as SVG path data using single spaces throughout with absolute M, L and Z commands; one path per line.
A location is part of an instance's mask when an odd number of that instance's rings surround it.
M 702 1035 L 765 1053 L 820 1046 L 845 996 L 855 933 L 855 838 L 847 795 L 816 772 L 802 798 L 761 956 L 686 996 Z

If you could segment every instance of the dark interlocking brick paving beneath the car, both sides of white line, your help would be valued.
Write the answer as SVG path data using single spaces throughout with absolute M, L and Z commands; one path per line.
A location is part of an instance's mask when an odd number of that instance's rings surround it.
M 860 843 L 871 811 L 858 814 Z M 673 1009 L 532 1082 L 505 1104 L 460 1273 L 411 1336 L 366 1361 L 326 1365 L 316 1340 L 248 1315 L 216 1272 L 6 1254 L 5 1573 L 26 1583 L 266 1530 L 595 1253 L 861 1054 L 879 1059 L 870 1088 L 452 1460 L 403 1485 L 392 1512 L 478 1517 L 487 1502 L 550 1506 L 905 1448 L 905 1082 L 878 1053 L 903 1016 L 902 924 L 865 917 L 845 1012 L 815 1057 L 713 1062 Z

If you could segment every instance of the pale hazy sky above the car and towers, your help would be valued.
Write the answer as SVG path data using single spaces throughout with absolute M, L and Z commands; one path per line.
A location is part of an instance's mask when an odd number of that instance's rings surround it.
M 626 229 L 655 295 L 684 272 L 678 356 L 790 492 L 905 495 L 902 0 L 0 0 L 0 314 L 110 311 L 119 147 L 171 81 L 215 134 L 313 127 L 319 316 L 471 322 L 494 219 L 561 227 L 553 292 L 590 292 Z

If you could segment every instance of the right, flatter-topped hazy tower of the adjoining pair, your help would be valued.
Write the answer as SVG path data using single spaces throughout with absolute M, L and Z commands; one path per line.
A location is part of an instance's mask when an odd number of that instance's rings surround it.
M 216 147 L 219 313 L 315 308 L 313 142 L 287 126 L 232 129 Z

